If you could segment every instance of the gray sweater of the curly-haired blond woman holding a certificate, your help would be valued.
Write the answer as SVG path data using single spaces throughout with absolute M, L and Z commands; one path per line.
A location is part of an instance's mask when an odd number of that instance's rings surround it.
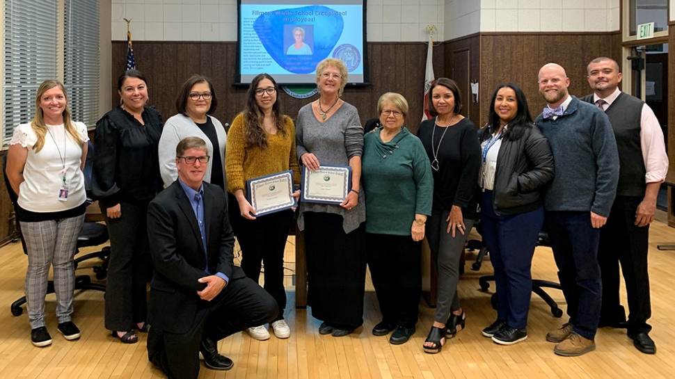
M 312 153 L 320 165 L 349 166 L 349 159 L 363 152 L 363 127 L 358 111 L 345 102 L 331 118 L 319 122 L 312 111 L 312 103 L 300 108 L 295 126 L 296 154 Z M 342 216 L 342 228 L 349 233 L 365 221 L 365 191 L 359 191 L 358 204 L 349 211 L 337 204 L 300 202 L 298 227 L 305 229 L 304 212 L 336 213 Z

